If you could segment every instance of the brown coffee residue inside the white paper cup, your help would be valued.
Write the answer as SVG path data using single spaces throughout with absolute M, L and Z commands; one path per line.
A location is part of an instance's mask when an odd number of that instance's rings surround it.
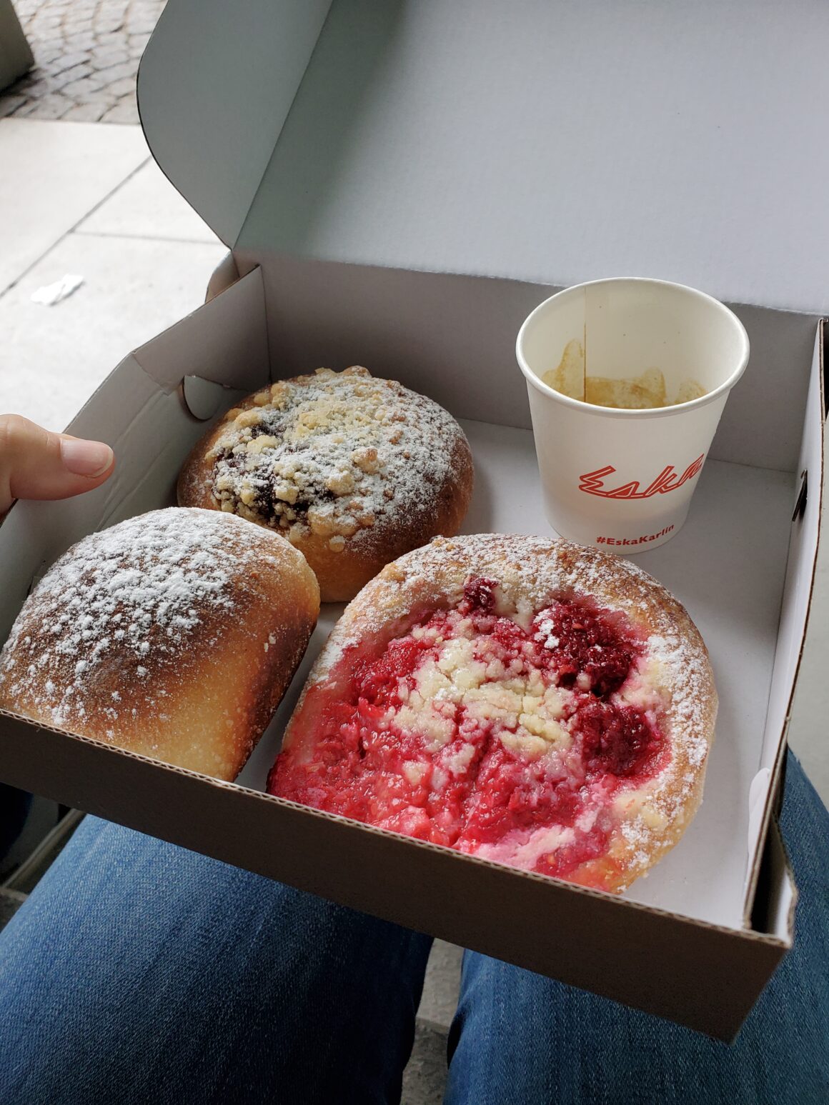
M 689 379 L 682 380 L 676 397 L 669 399 L 664 375 L 658 368 L 649 368 L 641 376 L 621 380 L 588 376 L 585 349 L 576 339 L 564 347 L 558 367 L 545 372 L 542 379 L 548 387 L 570 399 L 580 399 L 594 407 L 616 407 L 623 410 L 671 407 L 705 394 L 705 389 L 696 380 Z

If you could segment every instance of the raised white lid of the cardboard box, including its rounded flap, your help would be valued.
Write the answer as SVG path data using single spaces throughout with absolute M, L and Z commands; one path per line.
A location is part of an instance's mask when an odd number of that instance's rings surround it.
M 170 0 L 138 101 L 164 171 L 249 253 L 820 313 L 828 36 L 807 0 Z

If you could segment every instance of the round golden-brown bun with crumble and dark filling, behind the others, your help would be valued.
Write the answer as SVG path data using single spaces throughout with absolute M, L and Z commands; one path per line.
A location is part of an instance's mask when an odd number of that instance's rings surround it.
M 187 459 L 178 501 L 287 537 L 337 602 L 457 534 L 472 482 L 469 443 L 442 407 L 353 367 L 281 380 L 228 411 Z

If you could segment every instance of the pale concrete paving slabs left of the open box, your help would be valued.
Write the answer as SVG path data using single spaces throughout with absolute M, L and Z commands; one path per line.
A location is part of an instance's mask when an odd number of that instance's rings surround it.
M 136 345 L 203 302 L 227 252 L 135 126 L 0 120 L 0 408 L 63 429 Z M 66 273 L 84 283 L 32 303 Z

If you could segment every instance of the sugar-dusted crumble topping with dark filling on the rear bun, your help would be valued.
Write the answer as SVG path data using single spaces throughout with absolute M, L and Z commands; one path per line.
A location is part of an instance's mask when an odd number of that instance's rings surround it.
M 342 551 L 433 509 L 454 477 L 459 441 L 460 427 L 433 400 L 365 368 L 319 369 L 228 413 L 208 453 L 212 495 L 293 544 L 314 534 Z

